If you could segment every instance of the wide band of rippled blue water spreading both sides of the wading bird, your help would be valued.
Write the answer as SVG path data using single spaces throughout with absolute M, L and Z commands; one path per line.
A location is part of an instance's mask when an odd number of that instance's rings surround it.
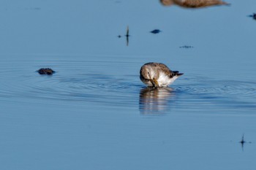
M 80 59 L 80 58 L 79 58 Z M 76 58 L 77 60 L 77 58 Z M 142 113 L 172 108 L 256 108 L 255 82 L 181 77 L 162 90 L 148 90 L 139 80 L 140 63 L 113 60 L 14 61 L 1 63 L 1 101 L 137 107 Z M 50 67 L 53 75 L 36 71 Z M 148 110 L 150 112 L 148 112 Z

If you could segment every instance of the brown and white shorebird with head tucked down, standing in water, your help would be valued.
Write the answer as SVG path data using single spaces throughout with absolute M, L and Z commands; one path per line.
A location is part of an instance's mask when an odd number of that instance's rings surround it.
M 140 68 L 140 80 L 153 88 L 167 87 L 182 74 L 171 71 L 164 63 L 145 63 Z

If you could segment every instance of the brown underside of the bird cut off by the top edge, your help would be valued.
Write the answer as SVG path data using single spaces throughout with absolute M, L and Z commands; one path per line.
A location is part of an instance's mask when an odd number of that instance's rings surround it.
M 160 2 L 165 6 L 176 4 L 184 8 L 200 8 L 214 5 L 229 5 L 227 2 L 221 0 L 160 0 Z

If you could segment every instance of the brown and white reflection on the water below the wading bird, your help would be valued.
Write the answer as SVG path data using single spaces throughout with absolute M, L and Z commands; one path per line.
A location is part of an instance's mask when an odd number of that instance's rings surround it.
M 164 113 L 169 108 L 168 98 L 173 96 L 172 88 L 143 88 L 140 90 L 139 109 L 142 114 Z

